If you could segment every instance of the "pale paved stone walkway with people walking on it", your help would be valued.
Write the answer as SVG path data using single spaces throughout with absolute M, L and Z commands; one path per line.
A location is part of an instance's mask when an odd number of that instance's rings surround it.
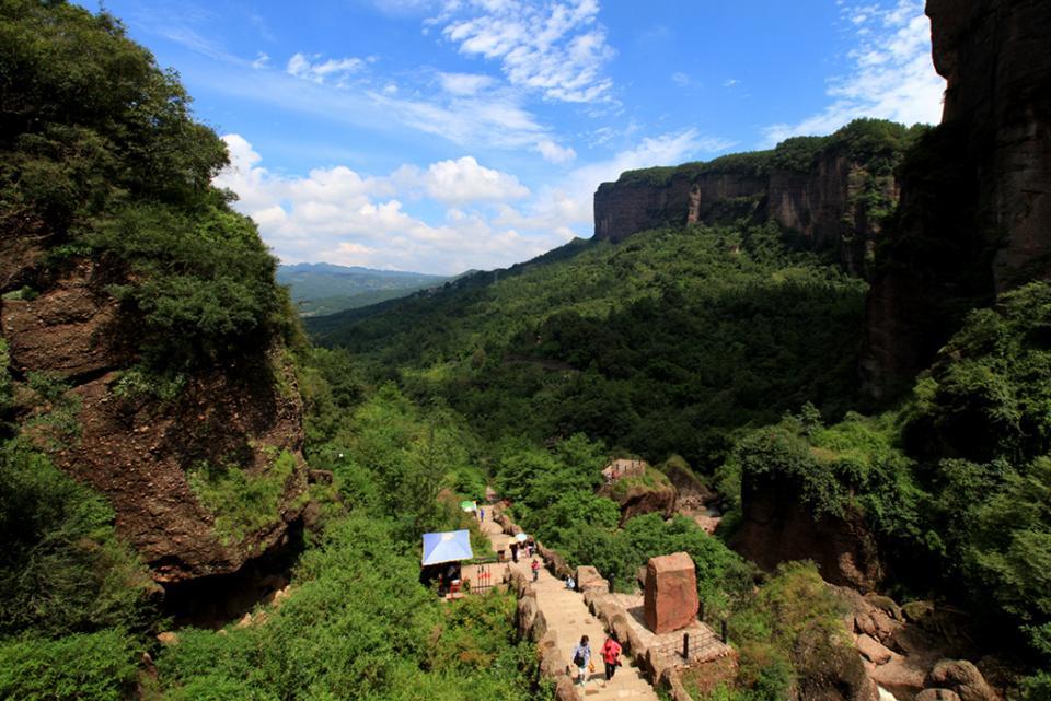
M 482 530 L 489 537 L 494 550 L 506 549 L 510 536 L 505 534 L 499 524 L 492 519 L 488 510 L 486 510 Z M 530 562 L 531 560 L 527 558 L 519 558 L 518 563 L 509 562 L 494 565 L 493 573 L 496 575 L 499 572 L 503 575 L 504 568 L 513 568 L 526 574 L 529 581 L 532 581 Z M 654 687 L 646 680 L 640 669 L 634 664 L 630 664 L 631 661 L 626 655 L 621 655 L 623 666 L 616 670 L 613 679 L 609 682 L 605 681 L 605 667 L 599 654 L 599 649 L 605 642 L 605 629 L 602 621 L 588 610 L 582 594 L 567 589 L 565 583 L 555 579 L 544 566 L 541 566 L 540 576 L 533 587 L 536 591 L 536 605 L 544 614 L 548 630 L 553 630 L 557 634 L 558 645 L 563 647 L 562 652 L 566 659 L 571 658 L 573 649 L 580 641 L 581 635 L 587 635 L 590 640 L 594 673 L 588 677 L 585 684 L 584 698 L 587 701 L 612 701 L 614 699 L 657 701 L 657 692 L 654 691 Z

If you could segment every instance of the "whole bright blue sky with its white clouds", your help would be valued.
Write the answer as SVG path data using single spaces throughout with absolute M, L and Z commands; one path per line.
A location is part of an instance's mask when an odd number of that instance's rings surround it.
M 944 90 L 922 0 L 105 7 L 178 71 L 286 262 L 506 266 L 590 236 L 624 170 L 936 122 Z

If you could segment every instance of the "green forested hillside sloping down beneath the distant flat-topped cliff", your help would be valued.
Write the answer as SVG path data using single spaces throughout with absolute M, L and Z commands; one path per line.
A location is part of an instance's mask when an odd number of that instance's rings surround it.
M 852 406 L 865 290 L 774 226 L 697 226 L 570 244 L 308 330 L 489 437 L 582 431 L 711 464 L 737 428 Z

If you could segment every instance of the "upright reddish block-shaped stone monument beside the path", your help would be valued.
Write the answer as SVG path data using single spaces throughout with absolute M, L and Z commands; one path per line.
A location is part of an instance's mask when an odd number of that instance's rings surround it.
M 697 618 L 697 576 L 685 552 L 650 558 L 646 566 L 646 626 L 654 633 L 686 628 Z

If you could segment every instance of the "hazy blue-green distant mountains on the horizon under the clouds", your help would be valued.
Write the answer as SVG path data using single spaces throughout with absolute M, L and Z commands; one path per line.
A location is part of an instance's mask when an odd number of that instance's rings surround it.
M 277 281 L 288 285 L 302 316 L 321 316 L 402 297 L 417 290 L 439 285 L 451 278 L 335 266 L 327 262 L 300 262 L 278 266 Z

